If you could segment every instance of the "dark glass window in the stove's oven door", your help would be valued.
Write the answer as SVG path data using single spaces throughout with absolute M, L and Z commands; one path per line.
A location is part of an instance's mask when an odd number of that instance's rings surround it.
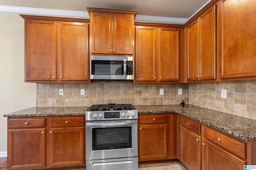
M 132 148 L 132 127 L 92 129 L 92 150 Z

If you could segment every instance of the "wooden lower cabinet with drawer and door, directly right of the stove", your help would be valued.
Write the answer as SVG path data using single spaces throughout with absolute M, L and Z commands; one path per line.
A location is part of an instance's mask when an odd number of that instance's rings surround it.
M 177 159 L 177 114 L 140 114 L 139 162 Z

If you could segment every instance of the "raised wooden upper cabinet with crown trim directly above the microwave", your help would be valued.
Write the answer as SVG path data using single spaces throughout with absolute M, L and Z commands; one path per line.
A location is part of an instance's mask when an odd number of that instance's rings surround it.
M 87 8 L 90 15 L 90 55 L 132 55 L 137 11 Z

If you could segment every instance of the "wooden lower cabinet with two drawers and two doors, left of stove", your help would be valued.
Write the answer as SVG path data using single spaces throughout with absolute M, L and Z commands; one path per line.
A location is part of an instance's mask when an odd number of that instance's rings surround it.
M 84 116 L 8 117 L 8 169 L 85 168 L 84 125 Z

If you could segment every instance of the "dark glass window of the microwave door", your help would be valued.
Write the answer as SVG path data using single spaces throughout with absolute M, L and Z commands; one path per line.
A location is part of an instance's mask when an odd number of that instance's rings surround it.
M 124 75 L 124 61 L 92 60 L 93 75 Z

